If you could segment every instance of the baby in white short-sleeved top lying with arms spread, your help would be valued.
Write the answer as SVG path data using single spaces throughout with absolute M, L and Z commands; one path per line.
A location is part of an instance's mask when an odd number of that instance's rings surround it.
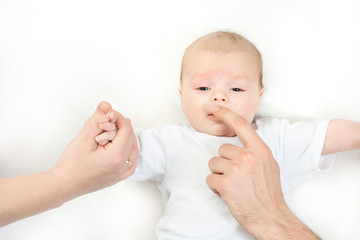
M 234 130 L 212 114 L 218 106 L 253 123 L 279 164 L 283 190 L 329 169 L 333 153 L 360 148 L 359 123 L 254 121 L 264 92 L 262 58 L 236 33 L 210 33 L 187 48 L 179 92 L 188 124 L 161 124 L 137 132 L 139 161 L 130 177 L 157 182 L 165 206 L 157 227 L 159 239 L 252 239 L 206 184 L 208 161 L 218 155 L 219 147 L 243 146 Z M 112 140 L 114 123 L 100 127 L 104 132 L 96 141 L 103 145 Z

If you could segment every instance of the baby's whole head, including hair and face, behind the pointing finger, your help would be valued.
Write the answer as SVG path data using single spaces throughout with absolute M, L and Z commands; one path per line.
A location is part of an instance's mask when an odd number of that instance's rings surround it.
M 239 34 L 207 34 L 185 51 L 179 91 L 182 110 L 195 130 L 235 136 L 211 109 L 223 106 L 253 121 L 264 91 L 261 54 Z

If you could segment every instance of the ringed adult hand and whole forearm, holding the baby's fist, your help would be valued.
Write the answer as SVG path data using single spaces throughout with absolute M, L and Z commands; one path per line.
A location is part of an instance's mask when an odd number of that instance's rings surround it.
M 112 142 L 100 146 L 98 124 L 116 118 Z M 137 165 L 136 137 L 128 119 L 100 103 L 81 132 L 66 147 L 51 170 L 0 180 L 0 226 L 61 206 L 127 178 Z M 131 164 L 129 164 L 131 163 Z

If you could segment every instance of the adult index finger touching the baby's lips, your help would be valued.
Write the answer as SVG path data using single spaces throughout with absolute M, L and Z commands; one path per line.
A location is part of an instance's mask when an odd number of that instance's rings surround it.
M 244 144 L 245 148 L 265 144 L 250 123 L 237 113 L 228 108 L 219 107 L 214 109 L 213 114 L 234 130 L 240 141 Z

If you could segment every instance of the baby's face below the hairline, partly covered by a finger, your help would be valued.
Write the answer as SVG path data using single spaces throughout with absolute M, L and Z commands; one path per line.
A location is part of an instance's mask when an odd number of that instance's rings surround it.
M 193 49 L 184 62 L 182 76 L 182 110 L 197 131 L 235 136 L 230 127 L 211 114 L 214 106 L 229 108 L 249 123 L 258 112 L 263 89 L 257 65 L 248 53 Z

